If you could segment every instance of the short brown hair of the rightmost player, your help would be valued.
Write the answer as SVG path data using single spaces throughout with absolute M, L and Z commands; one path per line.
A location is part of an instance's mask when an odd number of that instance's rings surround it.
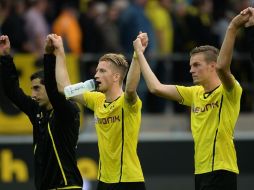
M 194 54 L 197 54 L 197 53 L 203 53 L 205 56 L 205 60 L 207 62 L 212 62 L 212 61 L 217 62 L 219 49 L 210 45 L 199 46 L 191 50 L 190 56 L 193 56 Z

